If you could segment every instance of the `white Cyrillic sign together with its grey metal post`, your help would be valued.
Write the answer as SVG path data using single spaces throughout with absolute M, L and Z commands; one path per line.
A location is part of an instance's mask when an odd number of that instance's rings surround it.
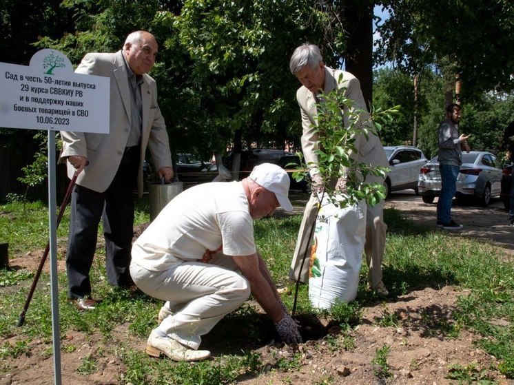
M 56 131 L 109 133 L 110 79 L 74 74 L 57 50 L 38 51 L 30 65 L 0 63 L 0 127 L 48 130 L 48 227 L 54 384 L 61 385 L 56 234 Z

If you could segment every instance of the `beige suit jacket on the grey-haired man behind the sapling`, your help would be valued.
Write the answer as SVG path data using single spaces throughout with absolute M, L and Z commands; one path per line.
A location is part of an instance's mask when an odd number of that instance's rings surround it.
M 340 75 L 342 78 L 340 79 Z M 360 117 L 362 121 L 369 118 L 366 103 L 360 90 L 360 82 L 358 79 L 349 72 L 341 70 L 332 70 L 325 67 L 325 89 L 323 92 L 328 94 L 336 87 L 344 90 L 345 96 L 353 101 L 351 110 L 362 110 Z M 318 124 L 318 110 L 316 108 L 316 98 L 306 87 L 302 86 L 296 92 L 296 100 L 300 105 L 300 113 L 302 114 L 302 151 L 307 164 L 309 162 L 318 163 L 318 156 L 316 155 L 318 133 L 316 132 L 316 125 Z M 343 111 L 343 121 L 345 127 L 349 125 L 348 118 L 349 110 L 345 107 Z M 367 123 L 371 125 L 371 123 Z M 369 134 L 366 138 L 363 134 L 356 138 L 356 148 L 358 154 L 351 154 L 352 158 L 357 162 L 367 163 L 371 165 L 380 165 L 383 167 L 389 166 L 387 156 L 384 152 L 384 147 L 380 143 L 380 138 L 374 133 Z M 311 173 L 316 174 L 315 169 Z M 374 178 L 373 178 L 374 179 Z M 367 182 L 371 182 L 368 181 Z

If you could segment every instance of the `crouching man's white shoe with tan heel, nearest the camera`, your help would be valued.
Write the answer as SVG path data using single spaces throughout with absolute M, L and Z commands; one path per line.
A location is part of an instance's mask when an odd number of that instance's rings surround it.
M 152 331 L 146 346 L 146 353 L 151 357 L 167 355 L 174 361 L 200 361 L 210 357 L 209 351 L 195 351 L 169 337 L 161 337 Z

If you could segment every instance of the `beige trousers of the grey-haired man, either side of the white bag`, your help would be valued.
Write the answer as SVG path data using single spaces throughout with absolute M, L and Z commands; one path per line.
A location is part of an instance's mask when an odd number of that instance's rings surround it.
M 311 195 L 309 202 L 303 212 L 302 224 L 298 232 L 298 240 L 294 249 L 289 278 L 300 282 L 309 281 L 309 258 L 311 256 L 311 244 L 313 226 L 316 223 L 316 212 L 318 210 L 318 197 Z M 380 200 L 377 205 L 371 207 L 367 205 L 366 211 L 366 242 L 364 243 L 364 253 L 369 267 L 368 282 L 372 289 L 382 282 L 382 258 L 384 257 L 385 240 L 387 225 L 384 222 L 384 201 Z M 305 252 L 307 256 L 304 259 Z M 301 268 L 301 273 L 300 273 Z

